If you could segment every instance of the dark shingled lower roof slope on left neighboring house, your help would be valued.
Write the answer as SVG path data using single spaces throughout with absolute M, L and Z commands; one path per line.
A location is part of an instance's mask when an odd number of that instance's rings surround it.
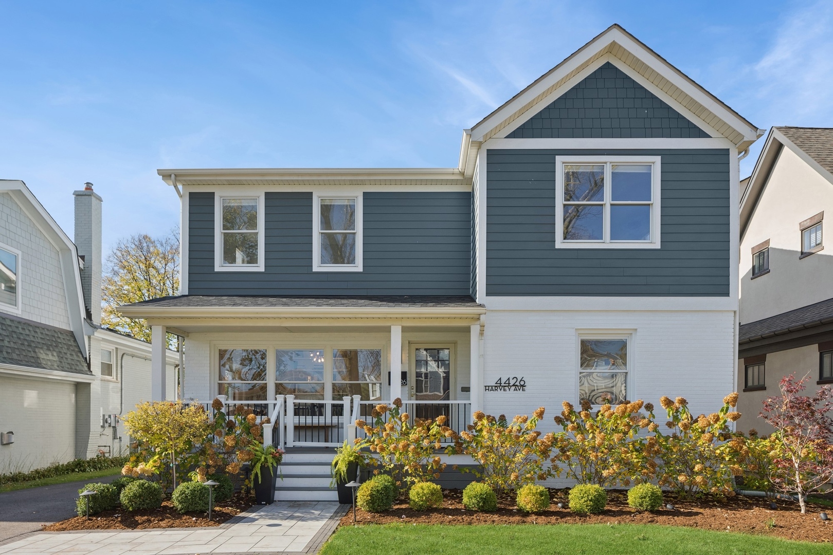
M 71 331 L 7 316 L 0 316 L 0 363 L 92 374 Z

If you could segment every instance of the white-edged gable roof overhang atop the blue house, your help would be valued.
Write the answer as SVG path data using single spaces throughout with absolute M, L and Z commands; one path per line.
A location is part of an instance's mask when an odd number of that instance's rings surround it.
M 471 127 L 470 141 L 479 143 L 506 136 L 587 73 L 611 61 L 691 121 L 732 141 L 739 151 L 746 150 L 764 133 L 631 33 L 613 24 Z

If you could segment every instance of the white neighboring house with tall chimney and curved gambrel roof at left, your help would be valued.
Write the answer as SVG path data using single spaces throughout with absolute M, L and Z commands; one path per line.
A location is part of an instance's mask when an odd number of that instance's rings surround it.
M 126 451 L 113 415 L 151 396 L 150 345 L 101 327 L 101 197 L 74 195 L 73 244 L 22 181 L 0 181 L 0 473 Z

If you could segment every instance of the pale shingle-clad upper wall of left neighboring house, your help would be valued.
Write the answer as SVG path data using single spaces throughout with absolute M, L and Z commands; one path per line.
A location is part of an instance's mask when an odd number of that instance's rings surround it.
M 17 278 L 22 317 L 68 330 L 58 252 L 7 193 L 0 193 L 0 242 L 22 252 Z

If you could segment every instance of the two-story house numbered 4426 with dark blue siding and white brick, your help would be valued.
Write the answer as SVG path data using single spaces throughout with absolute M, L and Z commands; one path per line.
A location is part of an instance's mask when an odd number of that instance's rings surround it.
M 123 312 L 153 326 L 154 395 L 183 335 L 183 395 L 277 416 L 290 451 L 396 398 L 458 430 L 544 406 L 547 431 L 604 394 L 711 413 L 736 384 L 738 156 L 763 132 L 615 25 L 464 130 L 453 168 L 159 170 L 182 295 Z M 332 496 L 330 458 L 287 453 L 279 496 Z

